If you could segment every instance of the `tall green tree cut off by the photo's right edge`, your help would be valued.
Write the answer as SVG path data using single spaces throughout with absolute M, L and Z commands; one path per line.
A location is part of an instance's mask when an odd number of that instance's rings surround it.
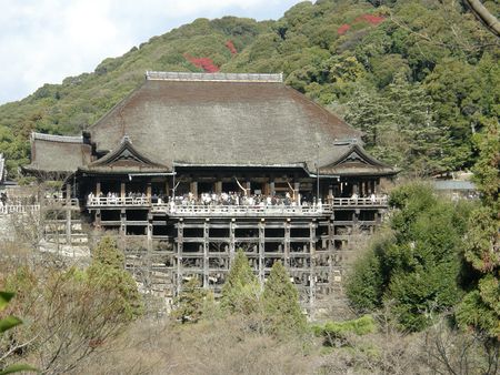
M 500 125 L 489 122 L 477 138 L 480 154 L 474 165 L 474 181 L 482 206 L 470 217 L 464 237 L 464 259 L 476 271 L 468 280 L 469 293 L 458 307 L 462 326 L 498 339 L 500 337 Z M 472 285 L 472 287 L 470 286 Z

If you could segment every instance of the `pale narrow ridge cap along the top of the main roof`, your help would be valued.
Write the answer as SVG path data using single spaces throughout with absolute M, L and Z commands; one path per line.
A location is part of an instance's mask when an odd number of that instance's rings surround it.
M 148 81 L 283 82 L 283 73 L 198 73 L 147 71 Z

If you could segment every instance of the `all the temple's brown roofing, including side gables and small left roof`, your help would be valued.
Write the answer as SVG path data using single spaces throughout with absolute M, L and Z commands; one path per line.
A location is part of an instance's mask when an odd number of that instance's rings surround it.
M 300 168 L 313 174 L 319 165 L 320 174 L 396 173 L 362 150 L 360 136 L 284 85 L 281 74 L 148 72 L 84 139 L 34 133 L 26 169 L 146 173 L 176 164 Z

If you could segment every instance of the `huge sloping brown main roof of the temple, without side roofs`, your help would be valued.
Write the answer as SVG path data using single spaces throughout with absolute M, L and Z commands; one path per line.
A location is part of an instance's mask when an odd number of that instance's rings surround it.
M 360 136 L 278 74 L 149 74 L 90 128 L 97 150 L 111 151 L 128 135 L 166 165 L 311 165 L 317 144 L 326 158 L 336 140 Z

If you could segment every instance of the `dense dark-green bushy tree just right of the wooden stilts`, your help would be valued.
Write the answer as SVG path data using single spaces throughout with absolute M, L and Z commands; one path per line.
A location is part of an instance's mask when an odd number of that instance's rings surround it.
M 470 205 L 438 197 L 421 183 L 396 189 L 390 205 L 391 234 L 356 262 L 348 297 L 361 312 L 391 301 L 400 327 L 421 331 L 462 296 L 459 255 Z

